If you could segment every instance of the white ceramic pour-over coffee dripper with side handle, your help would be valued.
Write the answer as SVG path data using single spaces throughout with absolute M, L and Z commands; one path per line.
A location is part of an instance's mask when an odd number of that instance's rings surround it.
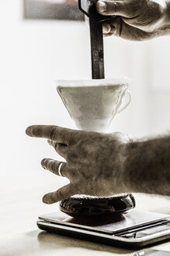
M 106 133 L 116 113 L 130 103 L 128 78 L 58 80 L 57 92 L 80 130 Z

